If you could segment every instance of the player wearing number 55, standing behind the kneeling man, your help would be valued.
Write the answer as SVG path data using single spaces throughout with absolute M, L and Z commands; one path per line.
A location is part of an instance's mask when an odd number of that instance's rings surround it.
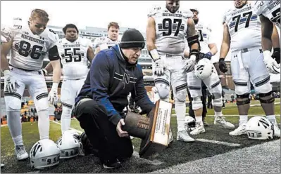
M 63 83 L 61 85 L 61 133 L 68 131 L 71 123 L 71 110 L 75 98 L 80 92 L 89 72 L 88 61 L 92 62 L 94 51 L 89 39 L 81 38 L 76 25 L 68 24 L 63 27 L 65 38 L 58 41 L 58 52 L 63 65 Z M 51 64 L 46 67 L 46 72 L 51 72 Z

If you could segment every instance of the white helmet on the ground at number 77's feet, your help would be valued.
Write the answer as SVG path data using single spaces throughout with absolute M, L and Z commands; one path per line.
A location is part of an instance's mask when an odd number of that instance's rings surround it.
M 246 132 L 250 139 L 273 139 L 273 124 L 266 117 L 254 116 L 246 123 Z

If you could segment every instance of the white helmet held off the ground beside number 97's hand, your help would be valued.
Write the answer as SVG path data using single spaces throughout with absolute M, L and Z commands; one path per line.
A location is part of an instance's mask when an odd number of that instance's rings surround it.
M 207 79 L 213 73 L 213 65 L 210 60 L 202 58 L 194 66 L 194 74 L 198 79 Z

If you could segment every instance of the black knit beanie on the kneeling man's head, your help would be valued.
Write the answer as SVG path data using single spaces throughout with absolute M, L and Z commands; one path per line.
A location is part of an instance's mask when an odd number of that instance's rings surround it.
M 137 29 L 127 29 L 120 41 L 120 48 L 144 48 L 144 36 Z

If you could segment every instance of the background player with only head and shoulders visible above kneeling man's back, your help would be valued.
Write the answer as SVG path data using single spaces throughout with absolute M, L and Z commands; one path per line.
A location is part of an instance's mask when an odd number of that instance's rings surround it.
M 111 48 L 118 44 L 119 36 L 119 25 L 117 22 L 110 22 L 107 26 L 108 36 L 97 38 L 94 41 L 94 54 L 99 53 L 99 51 Z

